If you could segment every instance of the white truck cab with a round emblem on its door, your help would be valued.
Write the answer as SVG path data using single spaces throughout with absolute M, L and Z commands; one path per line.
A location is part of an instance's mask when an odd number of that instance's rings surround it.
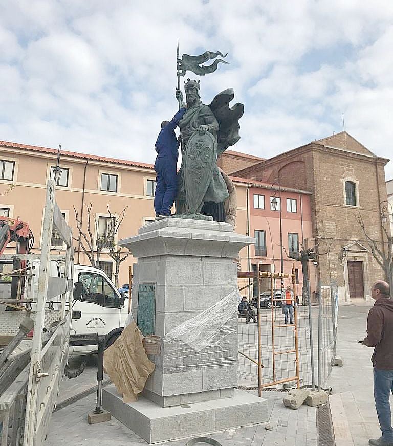
M 74 265 L 74 300 L 70 337 L 81 333 L 106 335 L 107 346 L 120 335 L 128 316 L 128 298 L 120 294 L 98 268 Z M 95 351 L 93 346 L 70 347 L 70 355 Z

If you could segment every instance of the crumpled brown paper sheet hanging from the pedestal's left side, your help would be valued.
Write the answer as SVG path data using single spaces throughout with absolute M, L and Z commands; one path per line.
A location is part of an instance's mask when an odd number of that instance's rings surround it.
M 147 358 L 142 341 L 143 335 L 133 321 L 104 352 L 104 371 L 126 403 L 137 399 L 155 367 Z

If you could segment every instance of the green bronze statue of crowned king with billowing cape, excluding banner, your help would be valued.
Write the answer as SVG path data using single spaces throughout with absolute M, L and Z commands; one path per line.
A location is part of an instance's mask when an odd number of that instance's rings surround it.
M 243 104 L 229 107 L 233 90 L 219 93 L 210 105 L 200 97 L 200 81 L 188 79 L 184 85 L 186 111 L 179 122 L 182 143 L 182 165 L 178 173 L 176 213 L 210 215 L 214 221 L 225 221 L 224 202 L 228 189 L 217 167 L 217 157 L 239 139 L 238 120 Z M 176 97 L 183 101 L 177 90 Z M 198 218 L 198 217 L 197 217 Z

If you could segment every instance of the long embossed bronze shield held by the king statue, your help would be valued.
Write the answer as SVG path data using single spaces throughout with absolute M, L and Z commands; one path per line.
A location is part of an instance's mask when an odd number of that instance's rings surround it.
M 196 214 L 211 181 L 213 163 L 216 159 L 216 140 L 209 132 L 200 135 L 195 131 L 187 143 L 184 169 L 186 189 L 186 212 Z

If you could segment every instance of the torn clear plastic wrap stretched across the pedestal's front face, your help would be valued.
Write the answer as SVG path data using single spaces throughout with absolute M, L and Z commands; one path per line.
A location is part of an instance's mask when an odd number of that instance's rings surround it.
M 163 339 L 163 372 L 235 363 L 240 299 L 236 288 L 198 316 L 166 333 Z

